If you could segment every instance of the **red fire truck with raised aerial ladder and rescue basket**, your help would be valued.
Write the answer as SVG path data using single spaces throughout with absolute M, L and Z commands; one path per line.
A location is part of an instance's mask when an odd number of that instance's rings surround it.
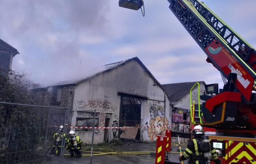
M 198 104 L 191 99 L 192 126 L 203 125 L 209 131 L 206 134 L 222 164 L 256 164 L 255 49 L 203 2 L 167 1 L 225 83 L 223 89 L 206 85 L 207 94 L 199 95 Z M 119 0 L 119 6 L 138 10 L 143 0 Z

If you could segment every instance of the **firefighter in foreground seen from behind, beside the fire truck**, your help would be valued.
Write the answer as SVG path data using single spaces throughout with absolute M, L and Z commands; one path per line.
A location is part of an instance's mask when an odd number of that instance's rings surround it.
M 207 164 L 212 159 L 215 164 L 221 164 L 221 161 L 218 159 L 217 152 L 215 149 L 211 150 L 210 142 L 202 142 L 202 136 L 204 136 L 204 129 L 201 125 L 196 125 L 192 131 L 193 140 L 188 142 L 188 147 L 185 149 L 185 152 L 182 156 L 179 157 L 179 160 L 187 160 L 189 158 L 188 164 Z M 202 147 L 203 146 L 203 147 Z M 210 157 L 206 157 L 206 153 Z

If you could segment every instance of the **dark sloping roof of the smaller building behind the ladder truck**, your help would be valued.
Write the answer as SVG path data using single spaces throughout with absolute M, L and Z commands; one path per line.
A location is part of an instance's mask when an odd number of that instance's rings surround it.
M 198 83 L 204 83 L 204 81 L 197 81 Z M 184 98 L 189 94 L 190 89 L 195 85 L 196 82 L 184 82 L 184 83 L 172 83 L 172 84 L 162 84 L 165 88 L 167 95 L 169 97 L 169 101 L 172 104 L 176 104 L 176 102 L 180 101 L 180 99 Z

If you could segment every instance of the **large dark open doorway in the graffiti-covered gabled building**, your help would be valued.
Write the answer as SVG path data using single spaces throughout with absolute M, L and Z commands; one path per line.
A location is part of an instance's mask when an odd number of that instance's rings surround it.
M 121 97 L 121 108 L 120 108 L 120 126 L 140 126 L 140 113 L 141 113 L 141 101 L 139 98 L 135 97 Z M 140 139 L 140 129 L 136 129 L 138 132 L 135 132 L 136 137 L 133 139 Z M 125 131 L 120 130 L 120 135 Z

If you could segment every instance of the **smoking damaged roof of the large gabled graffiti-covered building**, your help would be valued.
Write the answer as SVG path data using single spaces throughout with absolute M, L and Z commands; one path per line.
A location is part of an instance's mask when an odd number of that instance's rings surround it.
M 134 58 L 131 58 L 131 59 L 127 59 L 127 60 L 123 60 L 123 61 L 120 61 L 120 62 L 115 62 L 115 63 L 110 63 L 110 64 L 107 64 L 105 65 L 105 67 L 102 69 L 102 70 L 99 70 L 99 71 L 96 71 L 90 75 L 87 75 L 86 77 L 83 77 L 83 78 L 77 78 L 77 79 L 72 79 L 72 80 L 67 80 L 67 81 L 61 81 L 61 82 L 58 82 L 58 83 L 55 83 L 53 85 L 50 85 L 50 86 L 46 86 L 44 88 L 47 88 L 47 87 L 51 87 L 51 86 L 61 86 L 61 85 L 77 85 L 81 82 L 84 82 L 84 81 L 87 81 L 99 74 L 102 74 L 104 72 L 107 72 L 107 71 L 110 71 L 110 70 L 113 70 L 114 68 L 118 67 L 118 66 L 121 66 L 121 65 L 124 65 L 125 63 L 131 61 L 131 60 L 136 60 L 142 67 L 143 69 L 154 79 L 155 83 L 157 83 L 164 91 L 164 87 L 157 81 L 157 79 L 150 73 L 150 71 L 147 69 L 147 67 L 142 63 L 142 61 L 140 61 L 140 59 L 138 57 L 134 57 Z M 37 88 L 43 88 L 43 87 L 35 87 L 34 89 L 37 89 Z

